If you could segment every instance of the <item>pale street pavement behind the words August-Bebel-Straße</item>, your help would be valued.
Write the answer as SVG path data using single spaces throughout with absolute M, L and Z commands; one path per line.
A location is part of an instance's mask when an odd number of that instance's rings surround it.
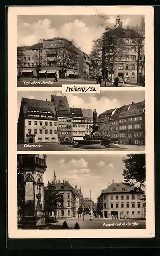
M 145 229 L 145 220 L 112 220 L 106 218 L 95 218 L 92 216 L 90 221 L 90 215 L 75 219 L 59 219 L 56 225 L 62 225 L 66 220 L 68 227 L 74 228 L 77 222 L 81 229 Z M 53 224 L 54 225 L 54 224 Z

